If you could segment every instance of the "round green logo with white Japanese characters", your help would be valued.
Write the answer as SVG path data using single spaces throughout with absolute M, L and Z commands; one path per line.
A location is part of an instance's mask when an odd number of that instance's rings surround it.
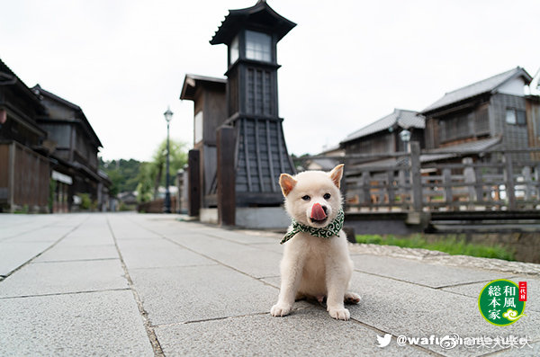
M 484 286 L 478 297 L 478 308 L 490 324 L 509 326 L 524 316 L 525 301 L 520 301 L 515 282 L 500 279 Z

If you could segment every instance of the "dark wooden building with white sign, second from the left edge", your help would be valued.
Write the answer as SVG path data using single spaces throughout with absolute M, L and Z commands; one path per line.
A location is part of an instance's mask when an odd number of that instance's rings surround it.
M 52 94 L 40 85 L 32 88 L 46 108 L 36 121 L 56 142 L 51 153 L 51 177 L 55 181 L 53 211 L 87 209 L 87 196 L 93 210 L 106 210 L 111 182 L 99 170 L 97 153 L 103 147 L 83 110 L 76 104 Z

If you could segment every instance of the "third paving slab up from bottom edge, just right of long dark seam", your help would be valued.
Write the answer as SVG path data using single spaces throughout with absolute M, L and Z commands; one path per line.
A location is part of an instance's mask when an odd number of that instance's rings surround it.
M 216 264 L 162 238 L 121 239 L 118 246 L 129 269 Z

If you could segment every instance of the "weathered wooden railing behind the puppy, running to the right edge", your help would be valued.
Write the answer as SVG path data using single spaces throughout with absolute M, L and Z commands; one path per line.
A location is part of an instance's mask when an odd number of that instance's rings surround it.
M 374 156 L 341 158 L 348 211 L 540 208 L 540 149 L 469 151 L 441 163 L 410 144 L 410 152 L 379 157 L 379 164 L 368 162 Z

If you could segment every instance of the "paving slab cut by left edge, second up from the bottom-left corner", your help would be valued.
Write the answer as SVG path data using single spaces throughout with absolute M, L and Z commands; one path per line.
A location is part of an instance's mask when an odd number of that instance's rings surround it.
M 0 282 L 0 298 L 126 289 L 120 260 L 31 263 Z

